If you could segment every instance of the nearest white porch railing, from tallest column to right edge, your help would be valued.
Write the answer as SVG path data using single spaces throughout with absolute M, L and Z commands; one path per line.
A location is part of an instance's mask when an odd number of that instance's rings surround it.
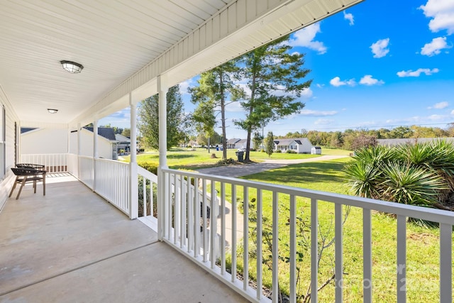
M 319 202 L 332 205 L 334 212 L 334 241 L 335 245 L 335 297 L 336 302 L 343 302 L 343 278 L 344 278 L 344 253 L 343 253 L 343 222 L 345 215 L 344 206 L 353 206 L 362 209 L 362 285 L 363 285 L 363 302 L 372 302 L 372 211 L 380 211 L 386 214 L 397 216 L 397 263 L 395 265 L 397 274 L 394 277 L 387 277 L 389 285 L 397 285 L 397 302 L 406 302 L 406 230 L 407 218 L 423 219 L 433 221 L 440 224 L 440 261 L 439 261 L 439 294 L 440 302 L 446 303 L 452 300 L 453 272 L 452 272 L 452 245 L 453 245 L 453 224 L 454 213 L 451 211 L 441 211 L 438 209 L 428 209 L 418 206 L 409 206 L 392 202 L 381 202 L 373 199 L 365 199 L 360 197 L 350 197 L 341 194 L 330 194 L 326 192 L 316 192 L 308 189 L 299 189 L 294 187 L 286 187 L 275 184 L 265 184 L 260 182 L 251 182 L 239 180 L 229 177 L 216 177 L 210 175 L 201 175 L 192 172 L 182 172 L 178 170 L 164 169 L 162 170 L 163 184 L 160 184 L 160 189 L 164 191 L 164 201 L 160 205 L 163 214 L 160 216 L 160 228 L 162 238 L 171 246 L 179 250 L 181 253 L 192 259 L 197 264 L 206 268 L 211 274 L 215 275 L 226 285 L 232 287 L 244 297 L 253 302 L 268 302 L 267 297 L 262 294 L 262 272 L 264 266 L 264 258 L 267 256 L 265 244 L 263 244 L 262 235 L 264 235 L 264 219 L 262 207 L 264 205 L 272 206 L 272 245 L 268 249 L 272 249 L 272 302 L 278 302 L 278 272 L 279 258 L 288 258 L 289 272 L 289 299 L 290 302 L 297 302 L 297 236 L 298 219 L 297 202 L 301 203 L 301 198 L 306 199 L 308 208 L 310 208 L 310 226 L 319 226 Z M 195 193 L 189 189 L 191 182 L 182 182 L 182 180 L 192 180 L 194 184 L 198 184 L 195 188 Z M 176 184 L 177 186 L 173 186 Z M 211 234 L 206 228 L 206 216 L 200 215 L 204 213 L 206 205 L 210 204 L 211 209 L 214 209 L 216 201 L 216 188 L 220 189 L 220 212 L 219 216 L 214 215 L 211 211 L 210 226 L 213 229 Z M 228 188 L 228 191 L 226 190 Z M 211 202 L 207 202 L 204 198 L 206 195 L 197 194 L 198 192 L 211 193 Z M 272 197 L 270 200 L 264 199 Z M 226 221 L 226 197 L 231 197 L 231 221 Z M 237 218 L 235 210 L 237 207 L 237 197 L 242 197 L 244 202 L 249 202 L 250 199 L 255 199 L 256 209 L 249 209 L 249 203 L 243 203 L 243 214 L 251 214 L 256 216 L 256 243 L 251 243 L 248 236 L 243 239 L 237 238 L 236 230 L 243 226 L 243 231 L 247 234 L 250 230 L 250 220 L 248 216 L 243 216 L 241 221 Z M 289 214 L 289 233 L 279 235 L 279 201 L 282 199 L 288 201 Z M 202 207 L 202 208 L 201 208 Z M 255 224 L 255 223 L 254 223 Z M 231 228 L 226 228 L 226 225 L 231 225 Z M 220 226 L 217 228 L 216 226 Z M 199 234 L 199 228 L 202 232 Z M 216 230 L 217 229 L 217 230 Z M 319 285 L 319 246 L 321 234 L 319 228 L 310 228 L 310 280 L 311 290 L 317 290 Z M 216 243 L 214 237 L 218 234 L 221 238 L 221 243 L 225 243 L 226 238 L 231 238 L 231 251 L 236 252 L 231 254 L 231 272 L 226 268 L 226 253 L 228 248 L 225 245 L 220 247 L 219 258 L 216 258 L 214 251 L 216 248 L 209 243 Z M 289 241 L 289 255 L 279 255 L 279 241 L 281 236 Z M 391 235 L 390 235 L 391 236 Z M 210 238 L 210 241 L 205 241 Z M 269 239 L 268 239 L 269 240 Z M 243 249 L 237 250 L 240 241 L 243 243 Z M 207 244 L 208 243 L 208 244 Z M 207 246 L 208 245 L 208 246 Z M 255 245 L 257 250 L 250 251 L 250 247 Z M 202 249 L 199 250 L 198 248 Z M 255 254 L 257 262 L 250 264 L 249 255 Z M 238 256 L 239 254 L 239 256 Z M 237 277 L 238 260 L 242 262 L 243 280 Z M 241 261 L 242 260 L 242 261 Z M 240 263 L 241 264 L 241 263 Z M 255 272 L 255 280 L 253 284 L 255 288 L 250 287 L 250 266 Z M 312 292 L 311 302 L 318 302 L 317 292 Z

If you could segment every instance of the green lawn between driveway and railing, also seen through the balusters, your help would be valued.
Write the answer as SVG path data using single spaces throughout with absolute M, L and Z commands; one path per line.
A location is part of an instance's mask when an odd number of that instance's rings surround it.
M 342 172 L 345 161 L 349 158 L 331 160 L 327 162 L 308 162 L 298 165 L 289 165 L 276 170 L 261 172 L 243 177 L 246 180 L 285 184 L 293 187 L 316 189 L 324 192 L 348 194 L 348 187 L 344 183 Z M 219 189 L 218 189 L 219 190 Z M 230 188 L 226 188 L 226 194 Z M 249 199 L 255 196 L 252 190 Z M 270 192 L 263 192 L 263 216 L 265 222 L 272 218 L 272 197 Z M 240 196 L 240 194 L 238 194 Z M 242 197 L 240 197 L 242 201 Z M 288 252 L 289 229 L 287 218 L 289 211 L 288 197 L 279 196 L 279 255 L 284 258 Z M 299 199 L 297 201 L 297 216 L 310 224 L 310 201 Z M 345 211 L 345 209 L 344 209 Z M 333 238 L 334 206 L 328 202 L 319 203 L 319 228 L 320 233 Z M 266 223 L 265 223 L 266 225 Z M 307 226 L 306 226 L 307 227 Z M 304 232 L 309 239 L 309 229 Z M 301 236 L 301 234 L 300 234 Z M 302 237 L 301 237 L 302 238 Z M 372 275 L 373 298 L 375 302 L 396 302 L 396 238 L 397 223 L 394 218 L 384 214 L 372 214 Z M 408 302 L 438 302 L 438 277 L 439 277 L 439 231 L 437 228 L 421 228 L 415 224 L 408 224 L 407 228 L 407 298 Z M 319 239 L 320 240 L 320 239 Z M 253 247 L 250 247 L 253 250 Z M 300 291 L 306 293 L 310 277 L 309 248 L 300 246 L 303 260 L 300 263 Z M 327 248 L 320 263 L 319 285 L 333 275 L 333 250 L 334 246 Z M 362 302 L 362 209 L 352 208 L 344 225 L 344 265 L 345 276 L 343 279 L 344 302 Z M 265 254 L 266 255 L 266 254 Z M 240 262 L 239 262 L 240 263 Z M 250 272 L 255 270 L 255 260 L 250 260 Z M 280 265 L 279 276 L 282 288 L 288 292 L 286 281 L 289 280 L 287 263 Z M 264 268 L 266 266 L 264 265 Z M 270 270 L 263 272 L 264 283 L 271 283 Z M 333 282 L 319 292 L 320 302 L 334 301 Z

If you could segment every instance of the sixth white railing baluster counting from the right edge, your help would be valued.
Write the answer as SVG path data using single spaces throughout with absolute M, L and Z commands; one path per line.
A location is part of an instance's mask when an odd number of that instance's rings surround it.
M 290 303 L 297 303 L 297 199 L 294 194 L 290 195 Z M 273 219 L 274 226 L 274 219 Z M 274 255 L 273 255 L 274 257 Z M 274 260 L 273 260 L 274 262 Z M 273 275 L 275 275 L 273 270 Z M 276 277 L 273 276 L 272 285 L 279 282 Z M 274 294 L 274 292 L 273 292 Z M 273 301 L 277 302 L 276 297 L 273 296 Z

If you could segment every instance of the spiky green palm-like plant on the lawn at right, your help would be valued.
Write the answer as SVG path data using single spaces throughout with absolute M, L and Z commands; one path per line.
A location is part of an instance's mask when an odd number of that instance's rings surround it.
M 454 201 L 454 145 L 447 141 L 362 148 L 353 159 L 345 173 L 355 195 L 441 209 Z

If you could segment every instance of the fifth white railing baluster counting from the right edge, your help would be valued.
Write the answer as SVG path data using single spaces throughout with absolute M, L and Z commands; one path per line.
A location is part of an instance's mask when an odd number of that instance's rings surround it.
M 319 209 L 317 199 L 311 199 L 311 303 L 319 302 Z

